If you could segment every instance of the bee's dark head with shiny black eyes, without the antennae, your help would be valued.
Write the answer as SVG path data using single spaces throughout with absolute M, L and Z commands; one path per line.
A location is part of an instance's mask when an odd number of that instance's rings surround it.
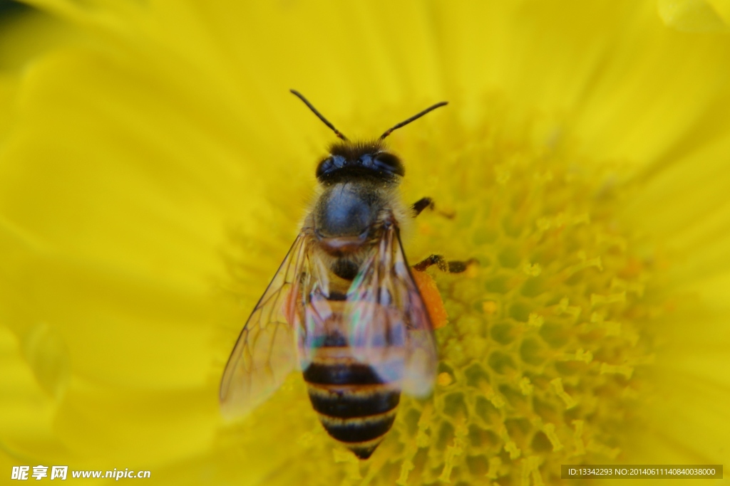
M 379 140 L 333 144 L 329 156 L 317 166 L 317 179 L 323 183 L 363 177 L 396 182 L 404 174 L 401 160 Z

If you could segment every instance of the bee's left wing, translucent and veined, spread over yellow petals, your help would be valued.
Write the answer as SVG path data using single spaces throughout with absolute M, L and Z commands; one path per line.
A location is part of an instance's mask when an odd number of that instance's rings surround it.
M 309 241 L 299 234 L 239 334 L 220 380 L 220 406 L 227 417 L 261 404 L 295 368 L 291 294 L 305 270 Z

